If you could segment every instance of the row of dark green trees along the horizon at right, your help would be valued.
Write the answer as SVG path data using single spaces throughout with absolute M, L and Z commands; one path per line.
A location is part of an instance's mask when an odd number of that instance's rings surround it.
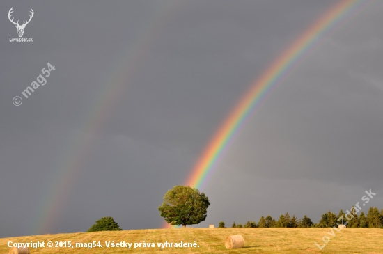
M 308 216 L 303 216 L 302 219 L 297 219 L 295 215 L 290 216 L 288 212 L 281 214 L 278 220 L 267 215 L 260 217 L 258 223 L 247 221 L 244 225 L 233 222 L 232 228 L 333 228 L 340 224 L 347 225 L 347 228 L 383 228 L 383 209 L 379 212 L 377 207 L 370 207 L 368 214 L 356 207 L 352 207 L 346 213 L 339 211 L 338 215 L 334 212 L 326 212 L 322 214 L 318 223 L 313 223 Z M 224 221 L 219 222 L 219 228 L 225 228 Z

